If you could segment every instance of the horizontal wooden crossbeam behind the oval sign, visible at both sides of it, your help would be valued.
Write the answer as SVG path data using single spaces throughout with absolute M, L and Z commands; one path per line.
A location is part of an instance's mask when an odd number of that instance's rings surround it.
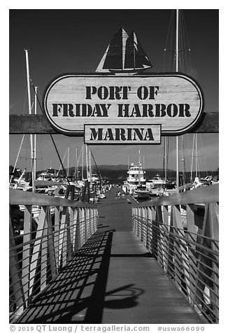
M 45 115 L 10 115 L 10 134 L 58 134 Z M 190 133 L 218 133 L 218 112 L 203 113 L 201 121 Z M 76 136 L 83 136 L 83 132 Z

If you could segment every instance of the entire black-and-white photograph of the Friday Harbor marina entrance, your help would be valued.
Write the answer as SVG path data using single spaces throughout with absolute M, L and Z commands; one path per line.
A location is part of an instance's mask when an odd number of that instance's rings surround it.
M 150 6 L 8 8 L 11 332 L 220 323 L 222 9 Z

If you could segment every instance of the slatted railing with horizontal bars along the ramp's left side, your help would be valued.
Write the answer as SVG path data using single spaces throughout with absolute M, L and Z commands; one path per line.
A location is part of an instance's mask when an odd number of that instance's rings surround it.
M 10 190 L 11 322 L 97 231 L 97 220 L 96 205 Z

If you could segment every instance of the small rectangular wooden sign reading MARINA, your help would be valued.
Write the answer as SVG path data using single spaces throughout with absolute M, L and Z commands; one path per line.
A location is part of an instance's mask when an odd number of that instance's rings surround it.
M 153 144 L 161 143 L 161 125 L 85 125 L 87 144 Z

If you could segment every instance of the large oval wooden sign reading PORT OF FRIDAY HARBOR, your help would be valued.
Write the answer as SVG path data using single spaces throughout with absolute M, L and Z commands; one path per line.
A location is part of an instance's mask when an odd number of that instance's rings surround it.
M 199 85 L 182 73 L 70 73 L 46 87 L 43 111 L 52 127 L 66 135 L 83 136 L 85 125 L 126 128 L 127 124 L 161 125 L 161 134 L 170 136 L 190 132 L 197 124 L 204 97 Z

